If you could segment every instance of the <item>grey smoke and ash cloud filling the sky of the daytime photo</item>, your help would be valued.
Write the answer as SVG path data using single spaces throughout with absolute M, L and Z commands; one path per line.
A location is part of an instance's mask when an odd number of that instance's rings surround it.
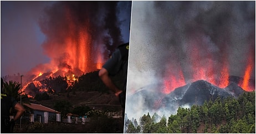
M 255 79 L 255 2 L 132 2 L 126 114 L 137 119 L 147 112 L 175 114 L 176 109 L 146 109 L 145 100 L 152 105 L 155 100 L 143 95 L 129 98 L 180 72 L 186 84 L 219 80 L 223 69 L 243 77 L 248 60 Z M 207 75 L 198 75 L 202 71 Z

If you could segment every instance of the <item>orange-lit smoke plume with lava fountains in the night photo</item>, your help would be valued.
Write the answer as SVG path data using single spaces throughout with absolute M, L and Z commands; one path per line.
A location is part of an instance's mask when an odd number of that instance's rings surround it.
M 115 48 L 129 42 L 131 2 L 56 2 L 39 19 L 50 63 L 30 72 L 81 75 L 96 70 Z

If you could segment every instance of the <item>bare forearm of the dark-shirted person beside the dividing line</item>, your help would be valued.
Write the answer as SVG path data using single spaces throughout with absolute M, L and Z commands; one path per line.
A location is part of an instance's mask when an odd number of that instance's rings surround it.
M 115 92 L 116 96 L 119 96 L 119 94 L 122 92 L 122 90 L 118 89 L 114 83 L 112 83 L 111 78 L 109 77 L 109 73 L 105 68 L 101 68 L 99 71 L 99 77 L 103 81 L 103 83 L 106 85 L 107 88 Z

